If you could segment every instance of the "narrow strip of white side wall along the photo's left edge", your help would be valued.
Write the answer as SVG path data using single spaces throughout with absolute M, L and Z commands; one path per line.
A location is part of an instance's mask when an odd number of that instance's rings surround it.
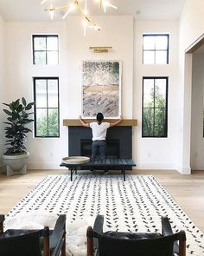
M 3 100 L 4 100 L 4 89 L 5 89 L 5 76 L 4 76 L 4 69 L 5 63 L 4 63 L 4 22 L 3 18 L 0 15 L 0 104 L 1 108 L 3 109 Z M 2 166 L 2 159 L 1 156 L 3 154 L 3 111 L 0 111 L 0 168 Z

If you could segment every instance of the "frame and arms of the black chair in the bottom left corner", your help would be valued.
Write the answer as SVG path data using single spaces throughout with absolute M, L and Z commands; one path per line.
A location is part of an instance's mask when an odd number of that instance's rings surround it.
M 0 240 L 3 236 L 3 221 L 4 215 L 0 214 Z M 62 214 L 56 220 L 54 230 L 49 230 L 48 226 L 44 226 L 43 229 L 8 229 L 7 232 L 14 233 L 39 233 L 39 243 L 40 237 L 43 238 L 43 256 L 66 256 L 66 215 Z M 16 235 L 17 236 L 17 235 Z M 12 237 L 12 236 L 11 236 Z M 4 238 L 5 239 L 5 238 Z M 51 248 L 50 248 L 51 246 Z M 52 249 L 52 252 L 50 252 Z

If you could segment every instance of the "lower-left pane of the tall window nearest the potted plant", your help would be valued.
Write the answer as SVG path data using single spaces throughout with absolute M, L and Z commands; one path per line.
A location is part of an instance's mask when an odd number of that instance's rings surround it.
M 48 136 L 47 109 L 36 108 L 36 136 Z

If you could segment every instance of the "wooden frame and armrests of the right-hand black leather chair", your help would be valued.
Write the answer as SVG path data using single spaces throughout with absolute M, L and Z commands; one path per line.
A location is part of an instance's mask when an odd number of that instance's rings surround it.
M 88 226 L 86 231 L 87 237 L 87 256 L 95 255 L 95 251 L 99 248 L 99 243 L 97 236 L 105 235 L 103 233 L 103 223 L 104 216 L 98 215 L 94 226 Z M 174 253 L 177 253 L 178 256 L 186 256 L 186 234 L 184 231 L 178 233 L 173 233 L 172 228 L 167 217 L 162 217 L 162 235 L 163 237 L 174 237 L 176 238 L 174 242 Z M 159 238 L 161 240 L 161 238 Z M 154 239 L 156 240 L 156 239 Z M 97 254 L 98 255 L 98 254 Z

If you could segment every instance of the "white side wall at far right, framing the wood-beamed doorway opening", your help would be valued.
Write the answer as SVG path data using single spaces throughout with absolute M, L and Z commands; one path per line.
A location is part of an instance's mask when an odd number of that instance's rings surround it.
M 180 22 L 180 137 L 178 168 L 182 174 L 190 173 L 190 134 L 191 134 L 191 91 L 192 56 L 185 54 L 186 49 L 197 40 L 204 31 L 204 1 L 186 0 Z

